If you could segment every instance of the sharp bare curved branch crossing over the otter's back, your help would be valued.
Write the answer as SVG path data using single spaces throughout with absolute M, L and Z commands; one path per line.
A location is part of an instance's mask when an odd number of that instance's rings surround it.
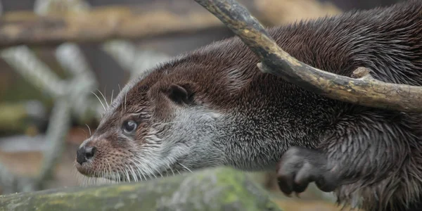
M 371 78 L 369 74 L 354 79 L 313 68 L 283 51 L 248 10 L 235 0 L 195 1 L 217 16 L 249 46 L 260 58 L 258 68 L 262 72 L 282 77 L 303 89 L 335 100 L 422 113 L 422 87 L 385 83 Z

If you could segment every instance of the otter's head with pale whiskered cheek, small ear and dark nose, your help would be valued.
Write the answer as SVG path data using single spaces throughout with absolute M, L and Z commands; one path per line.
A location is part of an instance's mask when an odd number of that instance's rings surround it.
M 222 113 L 198 97 L 195 82 L 169 69 L 156 68 L 120 91 L 77 150 L 80 173 L 137 181 L 224 162 L 212 141 Z

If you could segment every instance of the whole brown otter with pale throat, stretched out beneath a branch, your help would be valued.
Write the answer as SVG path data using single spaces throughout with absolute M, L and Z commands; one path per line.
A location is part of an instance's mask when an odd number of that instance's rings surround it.
M 383 82 L 422 86 L 422 1 L 268 32 L 315 68 L 350 76 L 364 67 Z M 260 72 L 258 62 L 231 37 L 144 72 L 79 146 L 77 170 L 113 181 L 219 165 L 277 170 L 286 194 L 315 182 L 338 203 L 364 210 L 417 208 L 421 114 L 335 101 Z

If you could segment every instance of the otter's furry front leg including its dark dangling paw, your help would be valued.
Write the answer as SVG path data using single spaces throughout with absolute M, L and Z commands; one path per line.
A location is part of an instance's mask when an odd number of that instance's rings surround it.
M 335 191 L 339 202 L 365 210 L 408 209 L 422 195 L 420 121 L 404 114 L 344 117 L 317 148 L 286 151 L 277 166 L 279 187 L 290 195 L 314 181 L 321 191 Z

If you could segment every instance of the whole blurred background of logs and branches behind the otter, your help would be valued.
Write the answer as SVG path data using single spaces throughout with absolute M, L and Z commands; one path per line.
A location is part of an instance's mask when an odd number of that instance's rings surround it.
M 266 26 L 397 1 L 238 0 Z M 0 194 L 94 184 L 73 160 L 101 103 L 157 63 L 233 36 L 193 0 L 1 0 L 0 14 Z M 251 176 L 286 210 L 340 210 L 314 186 L 286 198 L 273 174 Z

